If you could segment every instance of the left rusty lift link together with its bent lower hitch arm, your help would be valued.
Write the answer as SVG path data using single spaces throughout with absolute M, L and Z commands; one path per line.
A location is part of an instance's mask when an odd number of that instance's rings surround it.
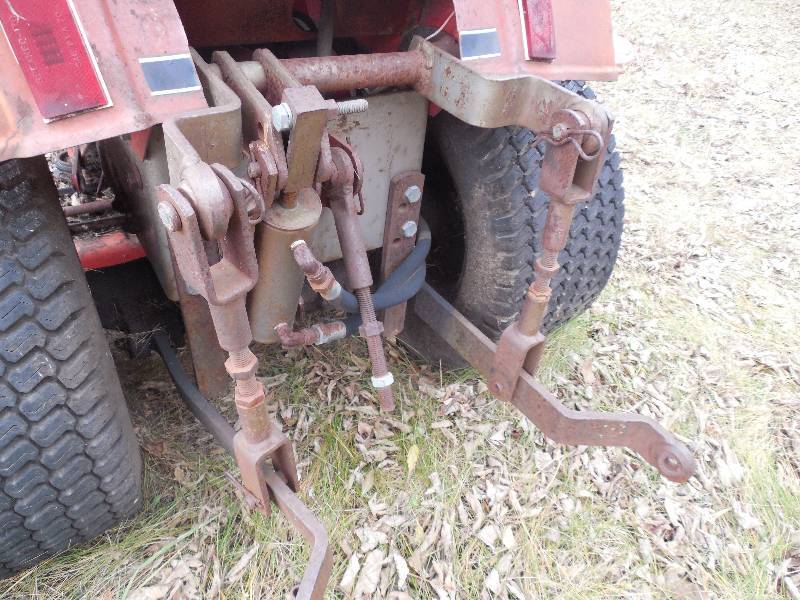
M 271 502 L 275 502 L 311 544 L 309 563 L 294 597 L 321 599 L 331 574 L 328 536 L 295 494 L 298 478 L 292 444 L 269 418 L 264 387 L 256 378 L 258 361 L 250 350 L 253 335 L 245 300 L 258 279 L 253 206 L 261 199 L 253 197 L 258 192 L 250 184 L 220 164 L 199 163 L 192 170 L 199 175 L 195 185 L 158 187 L 158 213 L 168 232 L 174 264 L 188 292 L 208 302 L 219 344 L 228 353 L 225 369 L 235 382 L 234 401 L 241 430 L 234 433 L 191 385 L 168 341 L 162 337 L 155 343 L 184 401 L 232 451 L 247 503 L 268 515 Z M 197 185 L 198 180 L 203 185 Z M 208 242 L 219 247 L 220 260 L 213 265 L 206 253 Z

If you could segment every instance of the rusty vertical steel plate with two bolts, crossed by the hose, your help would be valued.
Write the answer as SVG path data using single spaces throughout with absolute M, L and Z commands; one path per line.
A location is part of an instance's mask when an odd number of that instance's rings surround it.
M 381 279 L 385 280 L 391 275 L 414 249 L 424 185 L 425 176 L 419 171 L 399 173 L 389 182 L 389 201 L 386 205 L 386 225 L 383 229 L 381 251 Z M 384 335 L 396 337 L 403 331 L 405 317 L 405 302 L 384 310 Z

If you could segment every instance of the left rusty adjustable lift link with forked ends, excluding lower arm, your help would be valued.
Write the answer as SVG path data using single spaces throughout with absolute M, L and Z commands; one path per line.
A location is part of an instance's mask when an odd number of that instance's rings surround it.
M 269 514 L 267 461 L 271 459 L 293 491 L 297 490 L 297 469 L 289 439 L 267 413 L 264 388 L 256 379 L 258 361 L 250 351 L 253 336 L 245 300 L 258 278 L 254 226 L 248 215 L 254 191 L 222 165 L 197 167 L 208 168 L 214 175 L 205 177 L 206 185 L 200 188 L 208 193 L 198 192 L 199 186 L 161 185 L 159 215 L 180 275 L 189 293 L 208 302 L 219 344 L 228 353 L 225 369 L 235 382 L 234 400 L 242 425 L 233 439 L 234 456 L 245 489 L 259 510 Z M 227 222 L 222 222 L 226 217 Z M 206 242 L 219 246 L 220 260 L 213 265 Z

